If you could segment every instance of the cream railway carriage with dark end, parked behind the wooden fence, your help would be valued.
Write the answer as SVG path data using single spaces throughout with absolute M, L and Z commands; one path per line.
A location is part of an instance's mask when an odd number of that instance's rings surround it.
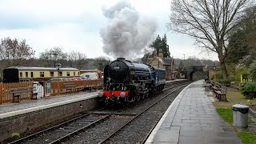
M 78 77 L 80 71 L 75 68 L 61 68 L 59 77 Z M 58 71 L 54 67 L 25 67 L 12 66 L 3 70 L 3 82 L 47 81 L 58 77 Z

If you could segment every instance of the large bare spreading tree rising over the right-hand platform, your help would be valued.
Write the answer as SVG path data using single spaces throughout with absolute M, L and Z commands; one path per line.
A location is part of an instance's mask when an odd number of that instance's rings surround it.
M 250 0 L 173 0 L 168 28 L 189 35 L 198 46 L 217 53 L 223 78 L 227 78 L 229 33 L 248 4 Z

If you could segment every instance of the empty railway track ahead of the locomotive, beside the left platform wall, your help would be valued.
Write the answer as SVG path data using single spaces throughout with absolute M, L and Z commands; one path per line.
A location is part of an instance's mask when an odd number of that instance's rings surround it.
M 79 132 L 96 125 L 99 122 L 110 118 L 110 114 L 95 115 L 95 114 L 83 114 L 78 118 L 74 118 L 70 121 L 63 122 L 57 126 L 50 127 L 49 129 L 39 131 L 35 134 L 20 138 L 10 144 L 14 143 L 59 143 L 66 138 L 74 136 Z

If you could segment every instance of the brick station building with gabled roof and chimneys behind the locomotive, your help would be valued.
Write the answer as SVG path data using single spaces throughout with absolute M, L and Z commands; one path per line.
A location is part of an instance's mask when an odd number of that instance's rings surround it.
M 174 58 L 163 58 L 162 51 L 160 50 L 158 55 L 154 52 L 154 58 L 148 58 L 147 64 L 166 70 L 166 80 L 175 79 L 178 74 L 174 71 Z

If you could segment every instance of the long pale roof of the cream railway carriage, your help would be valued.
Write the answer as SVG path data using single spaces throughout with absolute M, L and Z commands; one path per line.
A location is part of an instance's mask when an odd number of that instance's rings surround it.
M 57 70 L 55 67 L 27 67 L 27 66 L 11 66 L 6 69 L 18 69 L 18 70 Z M 64 67 L 60 68 L 59 70 L 75 70 L 77 71 L 78 69 L 75 69 L 73 67 Z

